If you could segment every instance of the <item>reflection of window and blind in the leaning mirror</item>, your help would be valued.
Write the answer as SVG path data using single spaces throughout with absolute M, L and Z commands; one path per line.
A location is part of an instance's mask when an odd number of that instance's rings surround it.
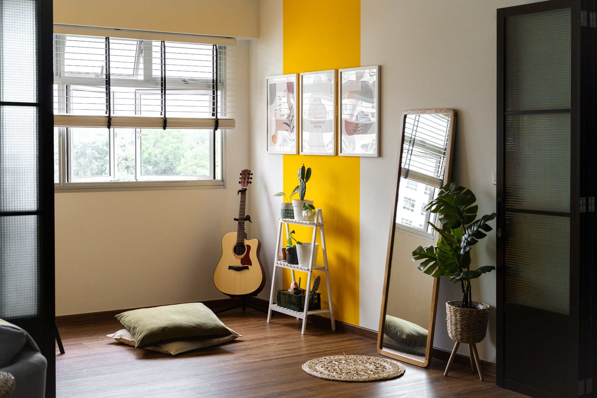
M 396 225 L 423 232 L 430 239 L 436 215 L 425 210 L 444 185 L 450 115 L 407 115 L 404 121 L 402 171 L 396 206 Z

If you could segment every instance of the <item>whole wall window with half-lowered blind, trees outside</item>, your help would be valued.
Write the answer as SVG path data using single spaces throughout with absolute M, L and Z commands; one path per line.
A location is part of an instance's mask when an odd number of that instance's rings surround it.
M 231 48 L 55 34 L 56 185 L 221 181 Z

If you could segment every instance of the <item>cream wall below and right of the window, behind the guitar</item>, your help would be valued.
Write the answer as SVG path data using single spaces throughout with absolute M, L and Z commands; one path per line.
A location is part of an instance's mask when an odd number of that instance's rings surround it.
M 236 230 L 238 174 L 249 167 L 249 42 L 236 43 L 226 188 L 55 194 L 57 315 L 226 297 L 212 275 L 221 237 Z

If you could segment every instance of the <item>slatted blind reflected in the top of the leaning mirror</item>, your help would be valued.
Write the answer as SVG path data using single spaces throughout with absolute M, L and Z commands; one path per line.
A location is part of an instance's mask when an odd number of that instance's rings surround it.
M 442 188 L 449 130 L 450 115 L 407 115 L 401 177 Z

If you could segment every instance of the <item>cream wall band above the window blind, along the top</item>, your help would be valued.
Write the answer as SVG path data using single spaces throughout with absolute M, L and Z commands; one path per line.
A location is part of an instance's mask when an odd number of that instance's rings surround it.
M 54 23 L 259 37 L 259 0 L 54 0 Z

